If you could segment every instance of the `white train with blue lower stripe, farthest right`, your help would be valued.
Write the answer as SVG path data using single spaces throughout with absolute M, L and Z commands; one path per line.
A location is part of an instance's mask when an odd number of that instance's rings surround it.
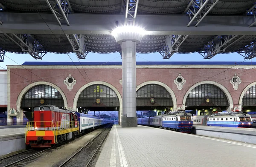
M 194 125 L 215 127 L 252 127 L 253 121 L 249 114 L 243 112 L 218 112 L 212 115 L 193 116 Z

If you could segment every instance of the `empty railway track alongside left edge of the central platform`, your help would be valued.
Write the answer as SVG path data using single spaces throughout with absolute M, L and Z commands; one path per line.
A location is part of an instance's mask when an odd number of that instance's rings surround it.
M 89 167 L 96 153 L 98 153 L 99 148 L 105 141 L 108 133 L 110 132 L 113 124 L 108 126 L 105 130 L 95 136 L 87 144 L 85 144 L 80 150 L 74 153 L 70 158 L 68 158 L 64 163 L 55 167 Z

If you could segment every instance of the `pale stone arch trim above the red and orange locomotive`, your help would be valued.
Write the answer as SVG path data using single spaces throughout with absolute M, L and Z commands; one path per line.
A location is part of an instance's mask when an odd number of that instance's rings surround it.
M 20 110 L 20 104 L 21 104 L 22 98 L 25 95 L 25 93 L 29 89 L 31 89 L 32 87 L 37 86 L 37 85 L 49 85 L 49 86 L 52 86 L 55 89 L 57 89 L 58 92 L 60 92 L 60 94 L 61 94 L 61 96 L 63 98 L 64 107 L 67 108 L 67 98 L 66 98 L 64 92 L 61 90 L 61 88 L 59 88 L 57 85 L 55 85 L 53 83 L 50 83 L 50 82 L 38 81 L 38 82 L 30 83 L 28 86 L 26 86 L 24 89 L 22 89 L 22 91 L 20 92 L 20 94 L 19 94 L 19 96 L 17 98 L 17 103 L 16 103 L 17 104 L 17 110 Z

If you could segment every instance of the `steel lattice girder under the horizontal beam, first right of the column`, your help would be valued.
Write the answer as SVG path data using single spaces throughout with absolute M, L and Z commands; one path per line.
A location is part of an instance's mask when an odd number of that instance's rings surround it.
M 163 56 L 163 59 L 169 59 L 175 52 L 178 52 L 179 47 L 188 36 L 189 35 L 169 35 L 159 51 L 159 53 Z

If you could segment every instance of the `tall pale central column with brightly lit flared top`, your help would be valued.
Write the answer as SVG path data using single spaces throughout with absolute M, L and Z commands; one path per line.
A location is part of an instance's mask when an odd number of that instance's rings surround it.
M 122 45 L 122 127 L 137 127 L 136 117 L 136 45 L 142 31 L 132 26 L 119 27 L 112 34 Z

